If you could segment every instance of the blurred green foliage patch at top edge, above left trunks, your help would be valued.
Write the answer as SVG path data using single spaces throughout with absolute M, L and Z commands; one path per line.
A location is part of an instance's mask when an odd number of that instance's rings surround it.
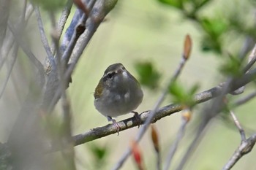
M 62 9 L 67 0 L 30 0 L 33 4 L 37 4 L 43 9 L 55 11 L 57 9 Z

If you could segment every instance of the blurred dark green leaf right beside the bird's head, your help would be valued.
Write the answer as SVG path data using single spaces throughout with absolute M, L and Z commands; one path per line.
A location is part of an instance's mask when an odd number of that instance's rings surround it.
M 154 68 L 151 62 L 135 63 L 135 69 L 139 75 L 139 82 L 151 90 L 158 88 L 160 73 Z

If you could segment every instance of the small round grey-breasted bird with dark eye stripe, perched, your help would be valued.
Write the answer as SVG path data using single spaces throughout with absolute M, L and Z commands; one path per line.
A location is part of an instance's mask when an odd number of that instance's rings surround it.
M 134 112 L 143 99 L 140 83 L 124 68 L 121 63 L 114 63 L 105 70 L 103 77 L 94 92 L 94 106 L 108 121 L 112 121 L 120 130 L 112 117 Z

